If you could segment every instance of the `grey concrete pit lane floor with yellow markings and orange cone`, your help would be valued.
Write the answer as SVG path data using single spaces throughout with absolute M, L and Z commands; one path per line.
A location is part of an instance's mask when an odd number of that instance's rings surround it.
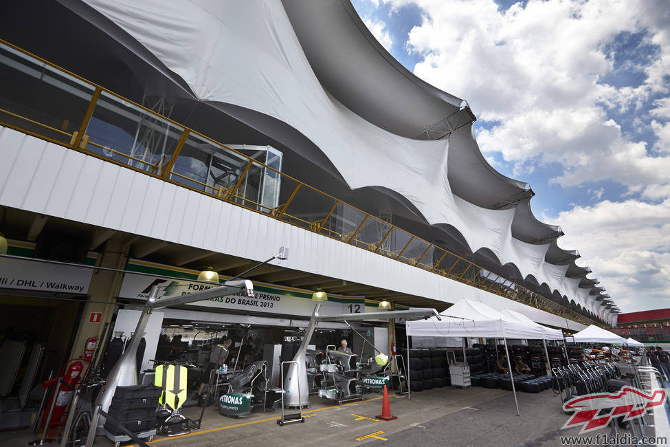
M 157 436 L 150 445 L 561 446 L 561 436 L 579 435 L 579 428 L 561 430 L 568 415 L 561 409 L 561 398 L 552 391 L 517 393 L 517 397 L 521 416 L 515 413 L 511 391 L 501 389 L 447 387 L 412 393 L 411 400 L 407 395 L 391 393 L 391 413 L 398 419 L 385 422 L 375 419 L 381 414 L 381 395 L 368 395 L 368 400 L 342 405 L 311 396 L 310 408 L 303 411 L 305 422 L 286 426 L 276 423 L 280 410 L 258 411 L 244 419 L 232 419 L 219 415 L 216 406 L 212 405 L 205 409 L 200 430 L 179 437 Z M 191 406 L 183 408 L 183 414 L 197 419 L 200 410 Z M 665 417 L 666 410 L 661 410 Z M 651 415 L 647 420 L 653 424 Z M 629 430 L 619 432 L 621 435 L 631 433 Z M 599 434 L 612 435 L 612 432 L 610 428 L 604 428 L 586 436 Z M 654 435 L 654 429 L 647 427 L 645 435 Z M 0 433 L 1 446 L 25 446 L 26 439 L 34 439 L 34 435 Z M 604 439 L 601 440 L 603 444 Z M 106 438 L 98 437 L 95 445 L 112 444 Z

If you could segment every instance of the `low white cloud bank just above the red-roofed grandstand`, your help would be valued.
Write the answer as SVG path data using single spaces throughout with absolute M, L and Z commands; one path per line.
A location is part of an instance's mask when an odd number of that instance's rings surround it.
M 560 245 L 578 247 L 623 312 L 670 307 L 670 199 L 601 201 L 560 212 Z

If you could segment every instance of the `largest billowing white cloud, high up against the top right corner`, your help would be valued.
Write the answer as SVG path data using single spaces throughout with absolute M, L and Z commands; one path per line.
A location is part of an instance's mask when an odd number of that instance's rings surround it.
M 667 96 L 670 3 L 663 0 L 529 0 L 501 11 L 493 0 L 387 0 L 396 9 L 416 3 L 423 22 L 407 47 L 421 55 L 414 72 L 465 98 L 482 120 L 499 124 L 478 134 L 484 152 L 516 165 L 559 163 L 554 182 L 574 186 L 614 179 L 646 191 L 670 186 L 670 145 L 632 140 L 610 112 L 638 117 L 654 95 Z M 644 63 L 637 87 L 603 81 L 616 74 L 611 44 L 623 32 L 646 31 L 660 54 Z M 665 135 L 670 99 L 656 100 L 657 135 Z M 649 123 L 635 121 L 636 129 Z M 663 127 L 665 125 L 665 127 Z M 649 152 L 647 151 L 649 150 Z M 644 185 L 644 186 L 640 186 Z M 651 196 L 650 196 L 651 197 Z

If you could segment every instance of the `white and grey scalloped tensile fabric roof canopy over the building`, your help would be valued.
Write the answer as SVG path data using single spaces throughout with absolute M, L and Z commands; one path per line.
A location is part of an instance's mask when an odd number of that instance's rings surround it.
M 469 107 L 395 61 L 348 0 L 85 3 L 77 14 L 118 45 L 150 54 L 146 63 L 197 100 L 318 166 L 325 155 L 331 164 L 324 169 L 351 189 L 393 191 L 416 207 L 417 221 L 455 228 L 472 253 L 487 249 L 548 296 L 616 324 L 616 314 L 596 301 L 601 290 L 582 283 L 588 272 L 572 267 L 579 254 L 556 245 L 561 229 L 533 217 L 525 182 L 484 160 Z M 240 118 L 243 111 L 254 113 Z M 443 127 L 431 133 L 437 123 Z M 322 154 L 289 144 L 291 132 Z M 440 133 L 449 138 L 431 140 Z

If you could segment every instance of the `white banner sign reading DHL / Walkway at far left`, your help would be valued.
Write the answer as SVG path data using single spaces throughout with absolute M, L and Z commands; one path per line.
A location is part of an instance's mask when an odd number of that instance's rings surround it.
M 24 259 L 0 258 L 0 288 L 86 294 L 93 270 Z

